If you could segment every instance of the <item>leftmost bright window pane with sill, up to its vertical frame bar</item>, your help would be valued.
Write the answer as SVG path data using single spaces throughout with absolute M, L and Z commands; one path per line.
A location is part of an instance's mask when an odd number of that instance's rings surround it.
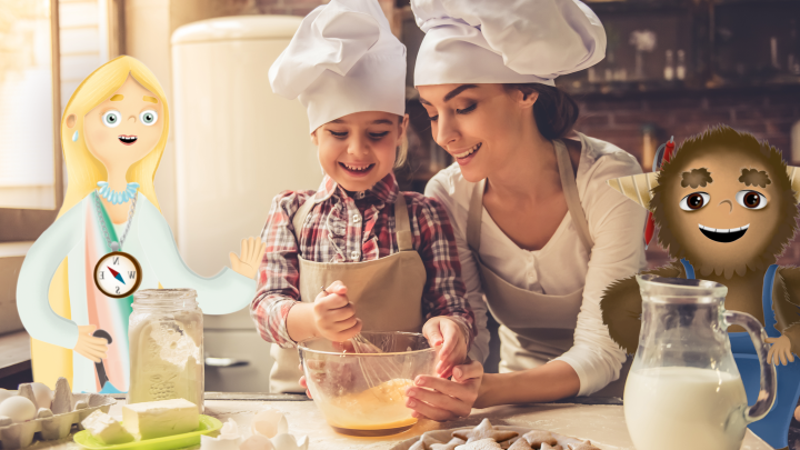
M 0 0 L 0 241 L 34 240 L 63 197 L 58 8 Z

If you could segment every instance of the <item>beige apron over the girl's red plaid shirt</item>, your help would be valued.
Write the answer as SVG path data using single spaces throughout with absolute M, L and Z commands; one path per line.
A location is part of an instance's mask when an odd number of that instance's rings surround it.
M 294 214 L 294 238 L 300 241 L 306 218 L 314 206 L 313 197 Z M 398 252 L 364 262 L 329 263 L 307 261 L 300 256 L 300 300 L 313 302 L 320 287 L 340 280 L 348 287 L 348 299 L 363 321 L 363 331 L 412 331 L 422 328 L 422 290 L 428 276 L 422 259 L 413 249 L 408 208 L 401 192 L 394 201 L 394 229 Z M 270 372 L 270 392 L 304 392 L 299 380 L 297 349 L 272 346 L 276 363 Z

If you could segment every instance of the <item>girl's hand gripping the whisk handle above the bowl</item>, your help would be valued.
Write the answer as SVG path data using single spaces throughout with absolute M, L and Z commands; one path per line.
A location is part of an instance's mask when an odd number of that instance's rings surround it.
M 341 281 L 333 281 L 317 296 L 313 316 L 320 336 L 329 341 L 344 342 L 361 332 L 361 320 L 356 318 L 356 309 Z

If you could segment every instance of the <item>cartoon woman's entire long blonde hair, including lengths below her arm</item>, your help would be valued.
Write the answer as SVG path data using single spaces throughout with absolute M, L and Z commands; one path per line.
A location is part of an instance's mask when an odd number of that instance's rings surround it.
M 163 120 L 161 138 L 153 150 L 138 162 L 131 164 L 126 173 L 128 182 L 138 182 L 139 192 L 147 197 L 156 208 L 159 208 L 153 179 L 169 133 L 167 96 L 150 69 L 134 58 L 121 56 L 104 63 L 87 77 L 72 93 L 64 109 L 61 118 L 61 148 L 63 149 L 69 184 L 58 218 L 97 189 L 98 181 L 108 180 L 106 167 L 87 148 L 83 118 L 98 104 L 111 98 L 128 80 L 128 77 L 132 77 L 144 89 L 152 92 L 163 106 L 163 114 L 159 118 Z M 68 126 L 68 122 L 71 127 Z M 76 131 L 78 131 L 78 139 L 73 141 L 72 136 Z M 52 278 L 48 297 L 50 307 L 57 314 L 71 319 L 66 258 Z M 31 361 L 33 379 L 36 381 L 54 389 L 58 378 L 64 377 L 70 386 L 73 386 L 72 349 L 64 349 L 31 339 L 31 353 L 33 357 Z

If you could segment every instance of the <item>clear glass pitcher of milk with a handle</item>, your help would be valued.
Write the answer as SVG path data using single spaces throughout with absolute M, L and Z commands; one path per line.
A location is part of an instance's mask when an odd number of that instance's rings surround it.
M 624 416 L 638 450 L 738 450 L 748 423 L 776 399 L 774 368 L 759 321 L 727 311 L 728 288 L 706 280 L 637 276 L 642 297 L 639 348 L 624 389 Z M 761 390 L 748 407 L 727 329 L 743 327 L 758 349 Z

